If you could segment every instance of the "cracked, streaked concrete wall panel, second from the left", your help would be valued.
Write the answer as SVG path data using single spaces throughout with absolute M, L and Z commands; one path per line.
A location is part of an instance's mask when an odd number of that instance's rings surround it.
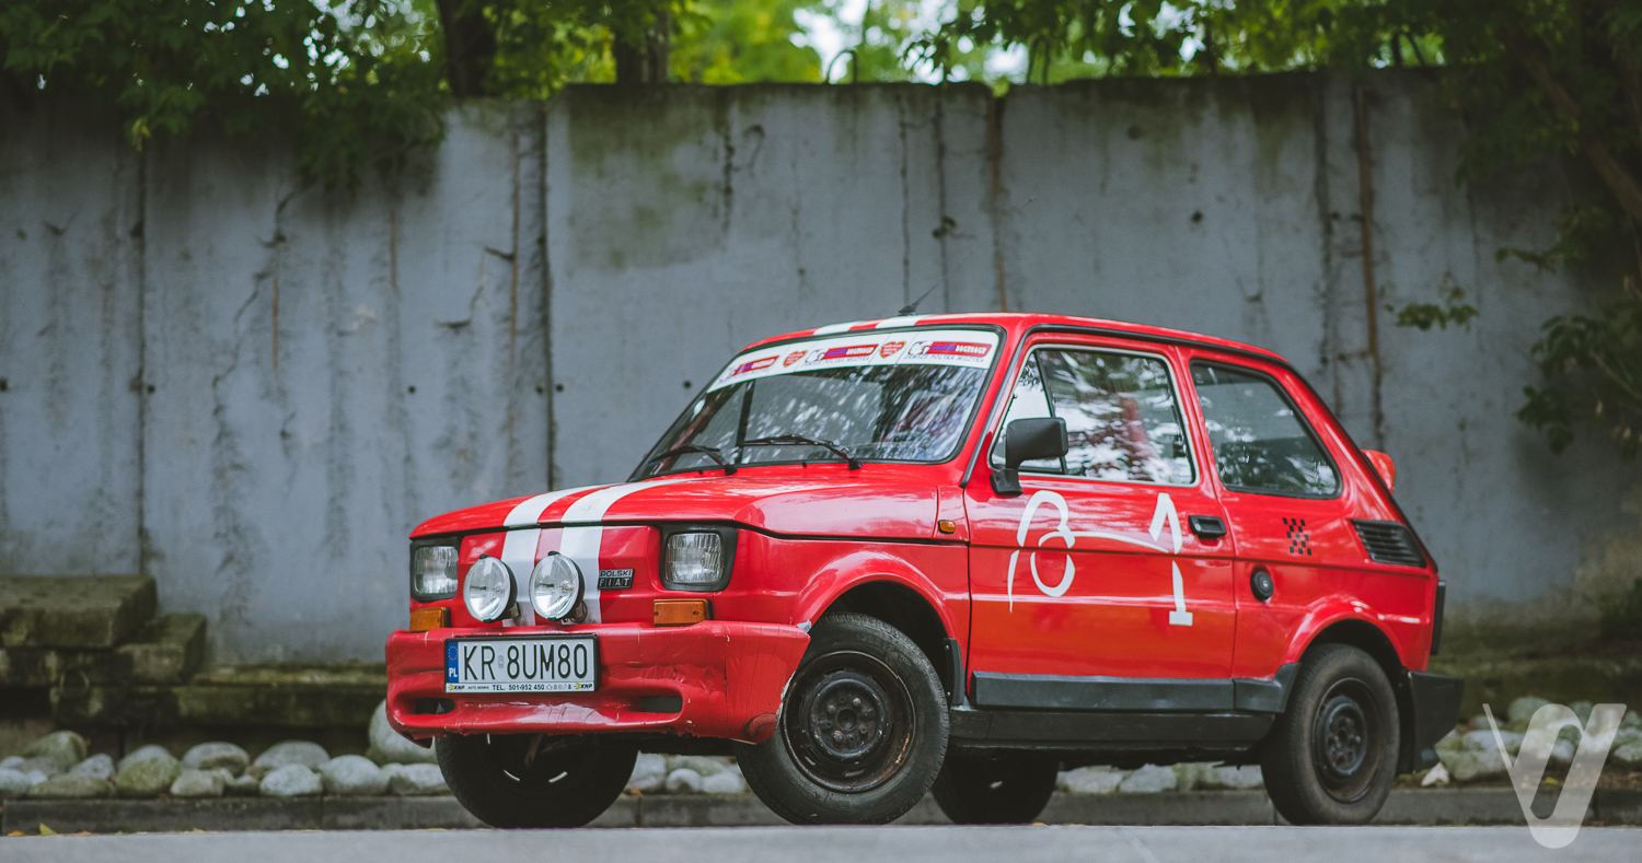
M 424 187 L 151 162 L 148 564 L 217 660 L 379 658 L 410 528 L 547 482 L 540 112 L 450 120 Z

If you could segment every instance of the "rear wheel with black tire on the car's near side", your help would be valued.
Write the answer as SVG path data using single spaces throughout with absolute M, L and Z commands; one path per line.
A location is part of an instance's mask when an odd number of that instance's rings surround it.
M 1314 648 L 1261 743 L 1259 773 L 1289 824 L 1368 824 L 1397 778 L 1397 696 L 1368 653 Z

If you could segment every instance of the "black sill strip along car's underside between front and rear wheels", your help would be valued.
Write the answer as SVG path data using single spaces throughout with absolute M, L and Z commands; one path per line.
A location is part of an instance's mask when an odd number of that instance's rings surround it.
M 1235 712 L 1048 712 L 974 710 L 949 712 L 954 740 L 1021 743 L 1251 743 L 1266 735 L 1273 714 Z

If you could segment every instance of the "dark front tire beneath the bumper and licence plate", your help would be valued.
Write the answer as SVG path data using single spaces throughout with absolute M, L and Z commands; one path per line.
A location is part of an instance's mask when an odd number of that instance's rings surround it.
M 534 733 L 442 737 L 435 753 L 456 802 L 491 827 L 581 827 L 616 802 L 639 758 L 596 737 Z

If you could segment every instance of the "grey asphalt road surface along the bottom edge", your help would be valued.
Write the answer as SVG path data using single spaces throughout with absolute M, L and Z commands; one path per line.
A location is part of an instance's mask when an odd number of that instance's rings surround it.
M 1540 848 L 1525 827 L 699 827 L 0 837 L 3 863 L 1404 863 L 1642 860 L 1642 829 Z

